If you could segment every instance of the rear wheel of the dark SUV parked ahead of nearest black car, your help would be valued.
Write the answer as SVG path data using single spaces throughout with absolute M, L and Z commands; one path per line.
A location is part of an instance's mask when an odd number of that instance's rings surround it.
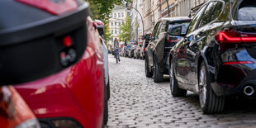
M 164 74 L 160 72 L 159 64 L 157 63 L 156 60 L 154 60 L 154 63 L 153 63 L 153 79 L 154 79 L 154 83 L 159 83 L 164 81 Z

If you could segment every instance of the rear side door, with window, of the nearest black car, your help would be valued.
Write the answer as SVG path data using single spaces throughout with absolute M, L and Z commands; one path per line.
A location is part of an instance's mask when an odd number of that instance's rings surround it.
M 187 83 L 192 85 L 192 90 L 197 91 L 197 66 L 198 59 L 201 56 L 201 50 L 206 46 L 206 38 L 209 33 L 209 23 L 211 15 L 216 12 L 216 5 L 222 2 L 209 2 L 204 13 L 198 21 L 197 29 L 189 34 L 188 44 L 186 46 L 186 63 L 187 63 Z M 221 10 L 222 5 L 218 4 L 217 9 Z

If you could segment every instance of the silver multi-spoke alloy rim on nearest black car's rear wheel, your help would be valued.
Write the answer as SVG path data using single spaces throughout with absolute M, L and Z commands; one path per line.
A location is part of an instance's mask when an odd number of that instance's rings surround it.
M 206 69 L 205 66 L 201 66 L 199 74 L 199 97 L 201 108 L 206 105 Z

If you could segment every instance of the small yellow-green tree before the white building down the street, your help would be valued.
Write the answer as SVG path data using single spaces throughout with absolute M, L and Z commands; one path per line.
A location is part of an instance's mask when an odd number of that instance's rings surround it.
M 130 17 L 127 16 L 126 21 L 122 23 L 120 26 L 121 33 L 119 34 L 119 40 L 121 41 L 130 40 L 130 34 L 131 34 L 130 28 L 131 28 Z

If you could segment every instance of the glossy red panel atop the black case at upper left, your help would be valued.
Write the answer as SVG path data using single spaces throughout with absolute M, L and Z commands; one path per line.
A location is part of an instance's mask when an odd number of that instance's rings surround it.
M 16 0 L 17 2 L 25 3 L 26 5 L 37 7 L 54 15 L 59 15 L 64 12 L 71 12 L 78 8 L 78 3 L 75 0 Z

